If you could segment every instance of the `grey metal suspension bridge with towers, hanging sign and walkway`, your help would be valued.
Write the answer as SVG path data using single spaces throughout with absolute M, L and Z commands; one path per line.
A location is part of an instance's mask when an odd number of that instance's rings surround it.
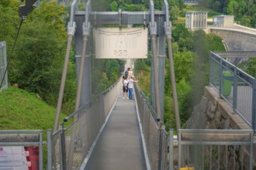
M 141 29 L 123 28 L 123 26 L 135 24 L 140 25 Z M 116 25 L 117 28 L 99 28 L 102 25 Z M 147 124 L 147 126 L 152 126 L 153 128 L 147 132 L 148 140 L 145 141 L 140 116 L 137 114 L 138 108 L 144 107 L 146 109 L 148 107 L 145 101 L 142 102 L 142 99 L 140 99 L 140 107 L 138 107 L 134 100 L 123 100 L 120 93 L 122 83 L 119 80 L 116 86 L 109 91 L 109 93 L 113 94 L 107 94 L 101 99 L 96 99 L 95 103 L 98 107 L 94 108 L 94 102 L 91 101 L 91 90 L 88 88 L 90 86 L 85 84 L 85 82 L 90 83 L 91 81 L 89 76 L 90 66 L 88 64 L 86 65 L 86 63 L 91 63 L 88 57 L 90 55 L 88 49 L 90 48 L 89 35 L 91 29 L 94 29 L 93 36 L 97 36 L 95 38 L 96 58 L 136 59 L 147 58 L 147 26 L 149 27 L 151 38 L 151 59 L 154 61 L 152 65 L 153 71 L 151 73 L 154 109 L 150 107 L 150 110 L 155 110 L 155 116 L 150 117 L 150 115 L 147 115 L 147 119 L 143 120 L 145 125 Z M 157 30 L 159 26 L 162 29 Z M 81 158 L 85 158 L 82 164 L 80 163 L 81 167 L 85 169 L 163 169 L 166 166 L 166 162 L 162 160 L 164 160 L 164 157 L 166 157 L 165 153 L 167 153 L 167 133 L 164 130 L 163 124 L 164 103 L 162 102 L 164 95 L 164 76 L 162 76 L 164 75 L 164 67 L 162 64 L 164 57 L 159 56 L 165 56 L 165 49 L 157 49 L 157 47 L 164 46 L 165 38 L 168 40 L 171 83 L 173 97 L 175 99 L 175 115 L 178 120 L 176 121 L 176 126 L 180 128 L 174 66 L 171 56 L 171 22 L 169 21 L 168 2 L 164 1 L 163 11 L 161 12 L 155 12 L 153 1 L 150 1 L 149 12 L 122 12 L 121 10 L 118 12 L 93 12 L 92 4 L 89 0 L 86 2 L 85 12 L 79 12 L 77 1 L 75 0 L 71 5 L 71 20 L 68 23 L 67 34 L 67 53 L 57 103 L 54 131 L 58 130 L 64 82 L 67 74 L 67 61 L 73 37 L 76 45 L 82 45 L 75 49 L 75 56 L 79 56 L 76 61 L 77 67 L 79 68 L 78 91 L 75 112 L 71 115 L 74 118 L 74 125 L 68 132 L 65 131 L 64 133 L 66 136 L 70 136 L 70 143 L 68 145 L 68 153 L 66 152 L 61 156 L 61 169 L 78 168 L 76 164 L 83 160 Z M 134 42 L 137 46 L 132 44 Z M 139 46 L 140 44 L 143 46 Z M 141 51 L 140 48 L 145 50 Z M 140 93 L 138 90 L 139 88 L 137 87 L 137 93 Z M 115 101 L 115 105 L 112 105 L 113 103 L 109 101 Z M 87 104 L 90 107 L 86 106 Z M 92 113 L 96 120 L 92 117 L 91 120 L 89 118 L 91 109 L 97 109 Z M 81 112 L 85 113 L 81 114 Z M 67 117 L 66 121 L 71 117 Z M 97 127 L 92 128 L 88 124 L 97 125 Z M 64 129 L 64 127 L 61 129 Z M 92 131 L 96 133 L 92 134 Z M 98 134 L 99 132 L 100 134 Z M 152 148 L 152 151 L 149 152 L 153 155 L 150 157 L 147 154 L 146 143 Z M 92 150 L 92 148 L 94 149 Z M 65 151 L 64 148 L 63 150 Z M 77 155 L 82 156 L 78 158 Z M 150 161 L 154 162 L 154 165 L 150 165 Z M 51 167 L 51 165 L 49 166 Z

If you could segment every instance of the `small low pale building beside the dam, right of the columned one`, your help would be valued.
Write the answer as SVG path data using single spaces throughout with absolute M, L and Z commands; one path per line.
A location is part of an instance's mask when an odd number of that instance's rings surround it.
M 234 25 L 234 15 L 213 16 L 213 26 L 229 27 Z

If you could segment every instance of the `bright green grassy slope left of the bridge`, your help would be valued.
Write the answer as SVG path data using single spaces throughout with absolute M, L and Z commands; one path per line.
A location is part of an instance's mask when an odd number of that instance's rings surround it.
M 54 117 L 55 108 L 34 93 L 16 87 L 0 92 L 0 130 L 43 130 L 45 135 L 53 128 Z

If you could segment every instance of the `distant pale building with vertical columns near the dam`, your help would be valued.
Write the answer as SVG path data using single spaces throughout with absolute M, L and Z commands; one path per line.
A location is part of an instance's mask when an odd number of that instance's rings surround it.
M 192 11 L 185 13 L 185 27 L 187 29 L 206 29 L 207 14 L 204 11 Z

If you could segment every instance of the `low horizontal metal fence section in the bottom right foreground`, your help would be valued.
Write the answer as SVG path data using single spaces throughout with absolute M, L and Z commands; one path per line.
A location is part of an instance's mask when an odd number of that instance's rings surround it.
M 178 130 L 178 169 L 253 169 L 252 130 Z M 182 161 L 183 159 L 183 161 Z

